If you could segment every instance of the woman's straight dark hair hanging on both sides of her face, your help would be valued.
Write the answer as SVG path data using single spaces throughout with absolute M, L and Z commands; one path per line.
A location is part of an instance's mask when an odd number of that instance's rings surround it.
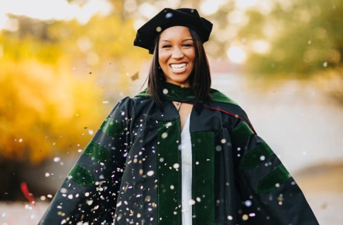
M 194 69 L 190 75 L 189 83 L 195 96 L 196 111 L 200 112 L 203 104 L 210 100 L 211 73 L 208 64 L 206 52 L 199 35 L 192 29 L 189 29 L 194 41 L 196 57 L 194 60 Z M 155 104 L 163 109 L 162 105 L 162 82 L 166 80 L 161 67 L 158 63 L 158 42 L 160 36 L 156 37 L 154 42 L 154 54 L 150 64 L 147 80 L 147 93 L 151 94 Z

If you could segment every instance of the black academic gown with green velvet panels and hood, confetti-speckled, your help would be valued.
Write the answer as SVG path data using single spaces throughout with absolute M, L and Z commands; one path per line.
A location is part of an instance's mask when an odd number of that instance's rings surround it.
M 194 95 L 163 85 L 163 111 L 146 91 L 117 104 L 41 225 L 181 224 L 181 130 L 172 100 L 194 103 Z M 211 98 L 191 113 L 193 225 L 318 225 L 245 112 L 217 90 Z

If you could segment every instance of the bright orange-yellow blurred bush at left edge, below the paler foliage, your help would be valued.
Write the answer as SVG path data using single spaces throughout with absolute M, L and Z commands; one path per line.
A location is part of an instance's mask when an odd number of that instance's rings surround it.
M 76 151 L 108 113 L 92 76 L 76 78 L 66 66 L 36 60 L 2 59 L 0 68 L 1 158 L 38 163 L 58 151 Z

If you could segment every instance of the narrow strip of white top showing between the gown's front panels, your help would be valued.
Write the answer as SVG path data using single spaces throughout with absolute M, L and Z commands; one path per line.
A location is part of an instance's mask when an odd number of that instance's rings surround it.
M 191 114 L 181 132 L 181 212 L 182 225 L 192 225 L 192 144 L 189 132 Z

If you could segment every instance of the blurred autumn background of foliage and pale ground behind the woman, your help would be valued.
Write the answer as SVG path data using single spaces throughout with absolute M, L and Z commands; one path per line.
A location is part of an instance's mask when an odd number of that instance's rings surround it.
M 214 23 L 213 88 L 238 102 L 321 225 L 343 225 L 342 0 L 0 2 L 0 224 L 37 224 L 103 119 L 138 93 L 136 30 L 165 7 Z

